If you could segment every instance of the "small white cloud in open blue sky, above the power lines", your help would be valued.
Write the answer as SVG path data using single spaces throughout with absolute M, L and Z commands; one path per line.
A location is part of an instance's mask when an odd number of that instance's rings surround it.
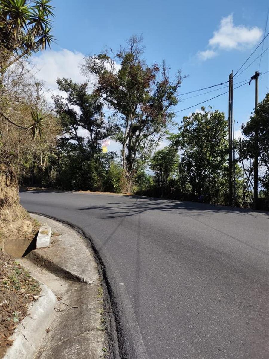
M 207 60 L 217 55 L 216 50 L 244 50 L 254 46 L 262 34 L 263 31 L 257 26 L 235 25 L 233 14 L 230 14 L 221 19 L 218 30 L 209 39 L 208 46 L 211 49 L 198 51 L 197 55 L 201 60 Z

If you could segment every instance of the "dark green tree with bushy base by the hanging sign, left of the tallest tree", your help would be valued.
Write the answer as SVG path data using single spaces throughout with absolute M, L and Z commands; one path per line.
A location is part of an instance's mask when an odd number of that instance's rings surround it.
M 77 84 L 65 78 L 56 82 L 67 97 L 54 97 L 63 129 L 56 151 L 54 185 L 67 190 L 104 190 L 111 185 L 106 178 L 108 173 L 112 178 L 112 173 L 117 171 L 113 164 L 115 153 L 101 153 L 101 140 L 113 131 L 113 126 L 105 121 L 101 98 L 89 93 L 88 83 Z

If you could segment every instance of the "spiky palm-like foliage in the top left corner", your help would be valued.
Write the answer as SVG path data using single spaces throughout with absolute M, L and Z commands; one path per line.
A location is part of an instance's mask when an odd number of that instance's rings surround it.
M 0 0 L 0 66 L 5 70 L 32 52 L 50 47 L 51 0 Z

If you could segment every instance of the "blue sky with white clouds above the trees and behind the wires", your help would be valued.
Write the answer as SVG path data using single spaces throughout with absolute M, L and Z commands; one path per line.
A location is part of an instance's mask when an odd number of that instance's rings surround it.
M 182 83 L 181 93 L 227 81 L 231 70 L 235 73 L 264 37 L 268 10 L 266 0 L 259 0 L 259 6 L 253 0 L 53 0 L 52 5 L 56 8 L 54 35 L 57 43 L 52 45 L 51 52 L 34 59 L 43 69 L 40 76 L 47 80 L 49 87 L 53 87 L 55 76 L 70 76 L 82 81 L 75 67 L 83 55 L 101 52 L 106 45 L 117 51 L 132 34 L 142 33 L 146 47 L 144 57 L 149 64 L 164 59 L 171 67 L 171 75 L 180 68 L 183 74 L 189 75 Z M 264 50 L 269 46 L 268 38 Z M 260 53 L 261 46 L 242 70 Z M 268 53 L 266 51 L 261 59 L 261 72 L 268 71 Z M 259 60 L 238 76 L 235 83 L 249 79 L 258 69 Z M 260 76 L 259 100 L 268 91 L 268 75 Z M 186 99 L 178 103 L 175 111 L 225 90 Z M 236 129 L 247 121 L 254 108 L 254 90 L 252 83 L 234 91 Z M 182 98 L 196 94 L 199 93 Z M 227 115 L 228 94 L 205 103 L 205 106 L 209 104 Z M 183 116 L 200 106 L 179 112 L 176 120 L 180 122 Z

